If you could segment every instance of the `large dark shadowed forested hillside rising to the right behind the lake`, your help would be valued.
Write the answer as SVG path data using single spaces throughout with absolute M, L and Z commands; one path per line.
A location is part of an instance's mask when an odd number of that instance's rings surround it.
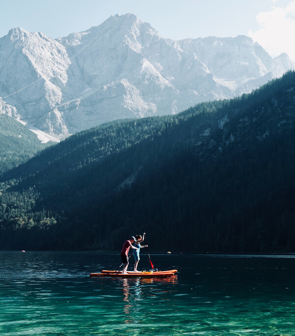
M 0 250 L 295 252 L 295 72 L 77 133 L 2 172 Z

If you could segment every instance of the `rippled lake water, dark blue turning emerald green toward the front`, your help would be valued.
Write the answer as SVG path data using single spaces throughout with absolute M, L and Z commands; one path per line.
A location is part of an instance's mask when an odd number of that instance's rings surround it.
M 0 252 L 0 335 L 295 335 L 294 255 L 151 260 L 177 276 L 89 278 L 115 253 Z

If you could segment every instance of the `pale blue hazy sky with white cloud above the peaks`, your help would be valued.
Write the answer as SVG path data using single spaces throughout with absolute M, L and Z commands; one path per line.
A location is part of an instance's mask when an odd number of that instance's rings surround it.
M 0 0 L 0 10 L 0 37 L 22 27 L 56 38 L 135 13 L 163 37 L 243 34 L 295 61 L 295 0 Z

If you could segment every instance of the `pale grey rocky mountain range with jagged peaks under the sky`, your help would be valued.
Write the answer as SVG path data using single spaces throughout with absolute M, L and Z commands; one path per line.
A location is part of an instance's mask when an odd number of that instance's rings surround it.
M 232 98 L 294 68 L 247 36 L 173 41 L 134 14 L 56 40 L 15 28 L 0 38 L 0 112 L 62 138 Z

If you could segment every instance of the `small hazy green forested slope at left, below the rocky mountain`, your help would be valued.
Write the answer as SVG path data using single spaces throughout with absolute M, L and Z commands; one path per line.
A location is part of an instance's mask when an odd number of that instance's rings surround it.
M 0 114 L 0 174 L 48 147 L 17 120 Z

